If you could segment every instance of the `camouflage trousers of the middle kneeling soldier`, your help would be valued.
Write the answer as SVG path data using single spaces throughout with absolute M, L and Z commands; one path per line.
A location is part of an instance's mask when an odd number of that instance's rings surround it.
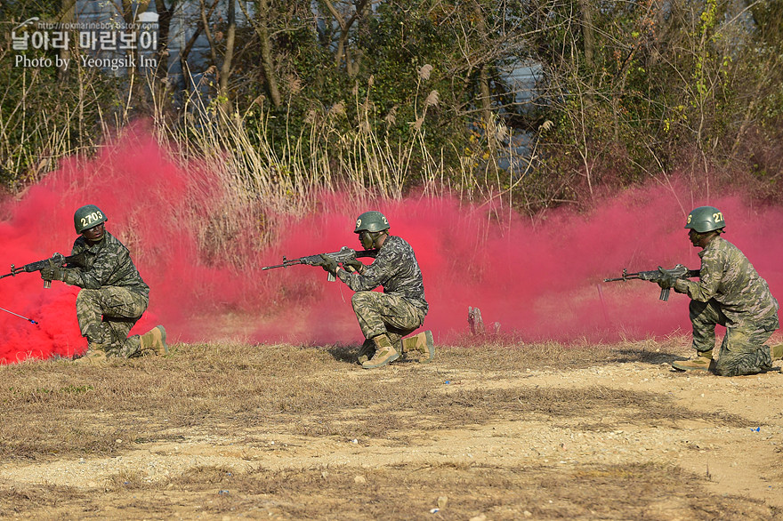
M 386 334 L 395 349 L 400 339 L 424 324 L 424 311 L 402 297 L 378 292 L 356 292 L 351 306 L 366 339 Z

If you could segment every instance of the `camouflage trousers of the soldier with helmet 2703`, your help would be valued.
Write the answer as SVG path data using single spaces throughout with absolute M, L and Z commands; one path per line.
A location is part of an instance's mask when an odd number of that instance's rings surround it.
M 139 335 L 128 338 L 128 333 L 148 304 L 147 296 L 117 286 L 81 290 L 77 296 L 77 319 L 89 349 L 106 351 L 109 357 L 138 356 Z

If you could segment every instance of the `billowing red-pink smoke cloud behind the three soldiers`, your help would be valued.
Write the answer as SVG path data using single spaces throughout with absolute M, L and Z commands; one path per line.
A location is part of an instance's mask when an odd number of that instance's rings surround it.
M 726 217 L 725 238 L 747 254 L 773 294 L 783 295 L 783 210 L 747 204 L 739 195 L 684 200 L 682 193 L 688 192 L 650 186 L 618 194 L 592 212 L 561 209 L 535 219 L 447 197 L 359 208 L 340 194 L 327 195 L 318 212 L 285 220 L 273 244 L 260 251 L 238 247 L 234 254 L 255 268 L 237 271 L 201 251 L 204 237 L 189 225 L 231 218 L 220 210 L 226 196 L 220 180 L 198 165 L 176 166 L 137 129 L 93 160 L 65 162 L 19 199 L 2 202 L 0 274 L 12 263 L 68 254 L 76 238 L 73 212 L 92 203 L 109 216 L 107 229 L 131 249 L 151 288 L 149 310 L 133 333 L 160 323 L 171 341 L 359 343 L 347 286 L 327 283 L 321 269 L 260 268 L 283 255 L 359 249 L 354 219 L 376 209 L 416 251 L 430 302 L 424 327 L 436 341 L 467 331 L 469 306 L 480 308 L 488 331 L 499 323 L 501 333 L 525 341 L 643 339 L 688 332 L 687 297 L 672 293 L 668 302 L 658 301 L 657 285 L 602 279 L 619 277 L 623 268 L 677 262 L 697 269 L 698 250 L 682 227 L 692 207 L 713 204 Z M 56 281 L 44 289 L 37 274 L 0 280 L 0 307 L 39 322 L 0 312 L 0 362 L 84 351 L 76 295 L 77 288 Z

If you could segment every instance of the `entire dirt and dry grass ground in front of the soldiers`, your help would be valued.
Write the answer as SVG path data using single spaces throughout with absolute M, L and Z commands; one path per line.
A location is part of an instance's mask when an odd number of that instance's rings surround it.
M 0 368 L 0 516 L 783 519 L 780 362 L 680 373 L 674 339 L 365 371 L 355 349 Z

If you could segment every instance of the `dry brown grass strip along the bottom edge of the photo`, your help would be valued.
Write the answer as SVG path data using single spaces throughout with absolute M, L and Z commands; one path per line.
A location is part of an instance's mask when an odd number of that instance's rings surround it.
M 176 491 L 176 493 L 174 493 Z M 441 512 L 433 517 L 432 509 Z M 610 500 L 609 500 L 610 498 Z M 665 498 L 665 499 L 664 499 Z M 77 504 L 77 515 L 69 504 Z M 110 506 L 107 506 L 110 505 Z M 710 496 L 698 477 L 658 465 L 553 469 L 440 465 L 259 470 L 199 468 L 164 485 L 124 485 L 100 494 L 68 487 L 0 493 L 0 515 L 62 518 L 267 519 L 766 519 L 741 497 Z M 525 514 L 528 512 L 528 514 Z M 484 515 L 485 517 L 480 517 Z

